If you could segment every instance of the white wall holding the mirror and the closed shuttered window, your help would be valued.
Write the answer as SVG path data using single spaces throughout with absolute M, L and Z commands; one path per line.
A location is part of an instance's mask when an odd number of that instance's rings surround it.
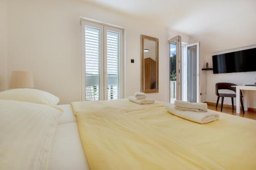
M 59 96 L 62 104 L 81 100 L 80 17 L 125 28 L 126 96 L 140 90 L 140 34 L 159 38 L 159 93 L 148 96 L 169 100 L 172 32 L 75 0 L 8 1 L 8 79 L 12 70 L 30 70 L 35 88 Z

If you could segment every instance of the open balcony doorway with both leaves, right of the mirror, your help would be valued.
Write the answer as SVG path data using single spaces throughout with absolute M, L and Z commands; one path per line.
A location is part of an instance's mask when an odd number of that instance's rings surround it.
M 200 102 L 199 42 L 181 45 L 181 36 L 168 42 L 170 103 Z

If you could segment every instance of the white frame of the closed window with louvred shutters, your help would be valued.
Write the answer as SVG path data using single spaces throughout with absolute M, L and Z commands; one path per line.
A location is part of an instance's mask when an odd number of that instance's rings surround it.
M 119 76 L 119 99 L 124 97 L 124 53 L 123 53 L 123 33 L 124 29 L 115 27 L 113 25 L 109 25 L 100 21 L 94 21 L 89 19 L 81 19 L 80 20 L 81 26 L 81 100 L 86 100 L 86 49 L 85 49 L 85 27 L 93 27 L 100 29 L 100 85 L 99 85 L 99 100 L 107 100 L 107 84 L 106 84 L 106 61 L 107 61 L 107 54 L 106 54 L 106 31 L 112 31 L 119 34 L 119 59 L 118 59 L 118 76 Z

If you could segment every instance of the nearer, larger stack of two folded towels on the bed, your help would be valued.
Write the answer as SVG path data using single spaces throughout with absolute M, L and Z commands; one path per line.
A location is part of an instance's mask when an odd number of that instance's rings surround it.
M 165 109 L 176 116 L 199 124 L 206 124 L 219 118 L 216 111 L 207 110 L 206 103 L 175 101 L 174 104 L 165 104 Z

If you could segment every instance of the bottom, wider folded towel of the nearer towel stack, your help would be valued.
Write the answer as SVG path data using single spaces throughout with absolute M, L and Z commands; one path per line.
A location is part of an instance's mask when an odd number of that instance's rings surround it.
M 191 112 L 184 110 L 177 110 L 174 108 L 173 104 L 165 104 L 165 109 L 179 117 L 190 120 L 192 122 L 196 122 L 199 124 L 206 124 L 217 120 L 219 118 L 219 114 L 216 111 L 208 110 L 207 112 Z

